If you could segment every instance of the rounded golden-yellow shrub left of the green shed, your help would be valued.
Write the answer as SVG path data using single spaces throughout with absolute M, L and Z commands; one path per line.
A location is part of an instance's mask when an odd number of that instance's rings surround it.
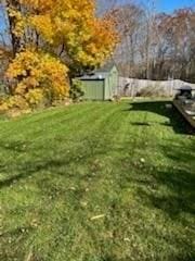
M 12 84 L 8 108 L 35 109 L 40 103 L 51 104 L 68 96 L 68 69 L 57 59 L 35 49 L 17 53 L 6 71 Z

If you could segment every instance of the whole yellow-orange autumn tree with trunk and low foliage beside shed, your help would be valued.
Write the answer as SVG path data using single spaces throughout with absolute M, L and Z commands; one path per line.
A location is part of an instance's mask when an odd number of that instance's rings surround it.
M 67 96 L 68 77 L 100 66 L 117 44 L 114 21 L 96 17 L 93 0 L 5 0 L 4 7 L 13 50 L 6 78 L 23 99 Z

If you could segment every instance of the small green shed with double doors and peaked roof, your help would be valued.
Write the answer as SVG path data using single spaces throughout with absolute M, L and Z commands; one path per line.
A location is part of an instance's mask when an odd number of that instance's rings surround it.
M 79 77 L 83 85 L 84 99 L 112 100 L 117 96 L 118 77 L 118 70 L 113 63 Z

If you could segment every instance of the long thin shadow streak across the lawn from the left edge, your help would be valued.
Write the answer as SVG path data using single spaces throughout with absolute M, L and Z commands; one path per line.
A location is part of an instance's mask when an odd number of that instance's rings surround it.
M 100 141 L 101 140 L 101 141 Z M 101 145 L 100 145 L 101 144 Z M 24 147 L 25 145 L 25 147 Z M 26 144 L 24 141 L 9 141 L 3 144 L 3 140 L 0 141 L 0 148 L 4 151 L 9 150 L 12 153 L 28 153 L 38 152 L 38 154 L 30 160 L 24 160 L 22 162 L 16 162 L 13 174 L 10 173 L 9 166 L 5 164 L 0 164 L 0 172 L 3 173 L 5 178 L 0 179 L 0 189 L 4 187 L 10 187 L 13 184 L 26 179 L 32 175 L 43 173 L 42 176 L 46 177 L 49 173 L 50 175 L 62 175 L 68 178 L 75 177 L 76 173 L 69 172 L 69 166 L 75 163 L 76 165 L 84 165 L 90 164 L 89 161 L 95 159 L 95 157 L 106 156 L 109 149 L 104 139 L 100 139 L 100 137 L 88 137 L 83 138 L 80 141 L 80 145 L 74 150 L 64 150 L 60 156 L 53 154 L 52 157 L 47 157 L 48 149 L 43 149 L 41 146 L 36 147 L 32 150 L 28 151 Z M 57 151 L 57 145 L 55 147 L 50 147 L 51 151 Z M 91 167 L 95 167 L 95 165 L 91 165 Z M 91 170 L 91 173 L 94 170 Z M 83 174 L 82 174 L 83 175 Z M 80 178 L 88 177 L 89 173 L 83 175 Z

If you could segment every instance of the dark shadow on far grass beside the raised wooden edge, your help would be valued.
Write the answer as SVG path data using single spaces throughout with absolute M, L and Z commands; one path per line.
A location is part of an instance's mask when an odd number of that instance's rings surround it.
M 172 107 L 167 108 L 166 104 L 171 104 L 170 101 L 143 101 L 143 102 L 132 102 L 129 111 L 144 111 L 153 112 L 158 115 L 162 115 L 169 119 L 170 123 L 161 123 L 165 126 L 171 126 L 177 134 L 190 134 L 191 128 L 179 112 Z M 132 125 L 150 126 L 150 123 L 136 122 Z

